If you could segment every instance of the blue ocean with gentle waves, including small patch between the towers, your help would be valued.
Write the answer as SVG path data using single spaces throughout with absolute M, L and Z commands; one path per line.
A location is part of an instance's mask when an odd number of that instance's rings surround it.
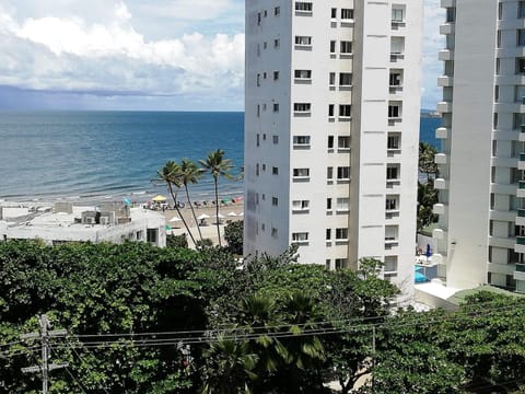
M 438 146 L 440 121 L 421 119 L 422 141 Z M 222 149 L 238 174 L 243 132 L 244 113 L 0 112 L 0 199 L 145 201 L 166 193 L 151 181 L 167 160 Z M 194 199 L 211 199 L 213 182 L 190 189 Z M 221 179 L 220 189 L 234 197 L 243 185 Z

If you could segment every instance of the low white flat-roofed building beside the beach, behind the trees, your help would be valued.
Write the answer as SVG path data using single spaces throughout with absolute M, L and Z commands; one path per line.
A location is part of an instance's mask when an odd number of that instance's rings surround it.
M 67 242 L 148 242 L 166 245 L 165 219 L 162 215 L 124 205 L 55 208 L 2 208 L 0 236 L 3 240 L 42 240 L 47 244 Z

